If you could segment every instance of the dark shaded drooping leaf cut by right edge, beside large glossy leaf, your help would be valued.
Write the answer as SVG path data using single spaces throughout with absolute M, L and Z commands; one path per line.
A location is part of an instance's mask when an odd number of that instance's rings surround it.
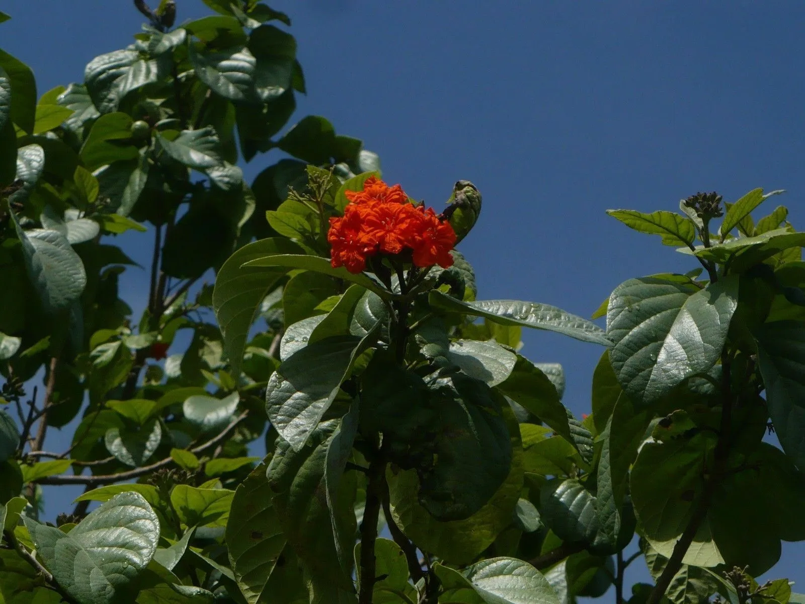
M 762 325 L 758 366 L 766 386 L 766 403 L 782 450 L 805 467 L 805 325 L 774 321 Z

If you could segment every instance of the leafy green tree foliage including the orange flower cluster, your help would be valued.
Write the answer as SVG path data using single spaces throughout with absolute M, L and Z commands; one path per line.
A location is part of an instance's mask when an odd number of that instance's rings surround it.
M 778 192 L 610 210 L 699 267 L 622 283 L 605 329 L 478 300 L 455 249 L 477 188 L 425 208 L 324 118 L 280 136 L 290 20 L 206 3 L 175 27 L 136 0 L 134 44 L 38 100 L 0 52 L 2 600 L 803 601 L 754 580 L 805 539 L 805 234 L 752 218 Z M 246 184 L 238 160 L 273 149 Z M 154 234 L 136 325 L 129 230 Z M 589 416 L 522 327 L 602 347 Z M 45 522 L 39 485 L 68 484 Z M 638 558 L 656 584 L 628 597 Z

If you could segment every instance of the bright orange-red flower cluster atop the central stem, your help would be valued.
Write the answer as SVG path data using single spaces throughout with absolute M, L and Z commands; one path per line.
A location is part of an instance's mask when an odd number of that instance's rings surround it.
M 452 266 L 450 250 L 456 245 L 452 226 L 440 221 L 432 208 L 411 205 L 400 185 L 390 187 L 370 176 L 362 191 L 348 191 L 346 196 L 344 216 L 330 218 L 327 240 L 333 267 L 359 273 L 369 256 L 407 250 L 417 267 Z

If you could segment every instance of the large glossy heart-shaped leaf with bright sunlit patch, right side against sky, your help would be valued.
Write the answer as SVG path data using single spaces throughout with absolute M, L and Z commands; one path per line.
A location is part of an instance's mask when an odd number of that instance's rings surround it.
M 681 276 L 630 279 L 615 288 L 607 312 L 615 344 L 609 358 L 626 394 L 650 403 L 709 370 L 720 357 L 737 298 L 734 275 L 701 290 Z

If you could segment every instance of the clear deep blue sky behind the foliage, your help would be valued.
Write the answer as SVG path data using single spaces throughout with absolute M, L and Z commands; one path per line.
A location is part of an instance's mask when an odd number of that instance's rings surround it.
M 180 21 L 208 12 L 200 0 L 176 2 Z M 81 81 L 93 56 L 139 30 L 130 5 L 5 0 L 14 19 L 0 26 L 0 46 L 31 65 L 42 92 Z M 805 3 L 272 6 L 293 19 L 308 81 L 297 118 L 321 114 L 364 139 L 386 180 L 429 205 L 458 179 L 481 189 L 481 221 L 460 249 L 482 298 L 588 316 L 625 279 L 696 267 L 606 209 L 674 210 L 696 191 L 734 201 L 785 188 L 770 202 L 805 228 Z M 273 161 L 255 158 L 246 173 Z M 524 340 L 533 360 L 564 365 L 565 402 L 588 412 L 601 350 L 548 333 Z M 783 544 L 770 575 L 799 579 L 801 592 L 803 561 L 805 547 Z

